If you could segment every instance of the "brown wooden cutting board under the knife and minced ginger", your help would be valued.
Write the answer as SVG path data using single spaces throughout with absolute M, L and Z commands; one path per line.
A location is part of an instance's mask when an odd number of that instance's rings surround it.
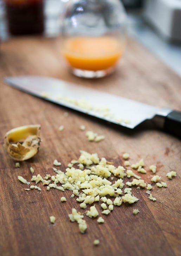
M 117 71 L 109 77 L 86 80 L 69 73 L 61 57 L 61 40 L 39 37 L 12 38 L 2 43 L 0 52 L 0 254 L 9 255 L 181 255 L 181 142 L 174 136 L 152 128 L 125 133 L 121 128 L 105 124 L 89 116 L 40 100 L 4 84 L 5 76 L 45 75 L 81 84 L 85 87 L 153 104 L 181 110 L 181 78 L 132 39 Z M 68 116 L 64 113 L 67 112 Z M 6 153 L 5 133 L 26 124 L 41 124 L 41 146 L 32 159 L 15 161 Z M 64 130 L 59 132 L 60 125 Z M 80 125 L 86 130 L 81 131 Z M 85 132 L 91 130 L 105 135 L 101 142 L 90 142 Z M 153 185 L 156 201 L 148 199 L 145 189 L 133 193 L 140 200 L 133 204 L 114 207 L 108 215 L 101 213 L 101 202 L 96 203 L 99 216 L 105 220 L 84 217 L 88 225 L 85 234 L 77 223 L 69 221 L 72 207 L 80 209 L 71 192 L 56 189 L 25 191 L 26 185 L 18 175 L 31 180 L 34 174 L 54 175 L 53 161 L 62 162 L 65 171 L 72 159 L 78 159 L 79 150 L 98 153 L 124 165 L 123 153 L 130 154 L 130 162 L 144 159 L 146 174 L 140 174 L 147 183 L 153 173 L 149 166 L 157 166 L 157 173 L 167 182 L 167 188 Z M 130 168 L 130 167 L 129 167 Z M 166 178 L 175 170 L 177 176 Z M 136 172 L 136 171 L 135 171 Z M 137 173 L 137 172 L 136 172 Z M 130 178 L 131 179 L 131 178 Z M 116 180 L 116 178 L 114 179 Z M 125 181 L 129 180 L 125 178 Z M 67 201 L 61 203 L 65 196 Z M 140 213 L 133 215 L 133 209 Z M 89 209 L 89 206 L 88 208 Z M 56 217 L 55 224 L 50 216 Z M 93 241 L 99 239 L 96 247 Z

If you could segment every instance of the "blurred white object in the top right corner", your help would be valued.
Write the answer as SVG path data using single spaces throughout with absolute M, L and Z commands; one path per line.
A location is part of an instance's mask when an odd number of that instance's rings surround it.
M 144 17 L 166 39 L 181 41 L 181 0 L 145 0 Z

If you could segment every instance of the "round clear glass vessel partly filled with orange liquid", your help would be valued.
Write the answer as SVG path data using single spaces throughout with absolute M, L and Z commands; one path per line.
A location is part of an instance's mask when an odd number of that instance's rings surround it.
M 127 15 L 119 0 L 69 1 L 62 23 L 62 54 L 79 77 L 113 72 L 125 48 Z

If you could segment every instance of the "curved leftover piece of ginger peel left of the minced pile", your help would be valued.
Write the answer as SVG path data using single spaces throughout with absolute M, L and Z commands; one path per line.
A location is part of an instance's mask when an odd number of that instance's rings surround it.
M 4 139 L 5 148 L 14 160 L 24 161 L 38 153 L 40 124 L 30 124 L 9 130 Z

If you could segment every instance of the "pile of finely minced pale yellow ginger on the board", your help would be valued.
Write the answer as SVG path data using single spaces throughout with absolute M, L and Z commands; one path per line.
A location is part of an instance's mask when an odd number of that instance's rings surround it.
M 128 158 L 129 154 L 124 153 L 123 159 Z M 61 163 L 54 160 L 53 165 L 60 166 Z M 53 167 L 52 169 L 55 175 L 46 174 L 44 178 L 40 174 L 33 175 L 31 181 L 35 182 L 35 184 L 43 183 L 47 191 L 52 188 L 62 192 L 65 192 L 65 190 L 72 191 L 70 198 L 76 197 L 80 209 L 86 209 L 88 205 L 91 205 L 90 210 L 86 210 L 84 213 L 77 212 L 73 208 L 72 213 L 69 214 L 70 221 L 76 221 L 78 223 L 81 233 L 84 233 L 87 229 L 84 215 L 89 218 L 97 218 L 98 223 L 104 223 L 104 219 L 99 216 L 101 213 L 103 215 L 109 215 L 114 210 L 114 207 L 119 207 L 122 203 L 136 203 L 139 199 L 132 194 L 132 186 L 136 186 L 137 189 L 146 189 L 146 193 L 149 195 L 148 199 L 156 201 L 156 198 L 150 192 L 152 190 L 151 184 L 147 184 L 134 172 L 136 170 L 140 172 L 140 169 L 144 167 L 143 159 L 131 165 L 131 168 L 134 169 L 133 171 L 125 169 L 124 166 L 116 167 L 105 158 L 99 159 L 97 153 L 90 154 L 80 151 L 78 160 L 72 160 L 67 166 L 65 172 Z M 156 169 L 155 166 L 152 167 L 149 167 L 152 171 Z M 32 170 L 34 171 L 33 168 Z M 142 172 L 144 175 L 145 173 Z M 172 176 L 176 176 L 176 172 L 167 173 L 169 179 Z M 117 177 L 117 179 L 114 180 L 114 177 Z M 131 178 L 131 181 L 125 182 L 125 177 L 129 180 Z M 18 179 L 22 183 L 30 185 L 30 182 L 21 176 L 18 176 Z M 160 180 L 161 177 L 159 175 L 151 178 L 151 181 L 156 183 L 158 187 L 167 187 L 166 182 L 158 182 Z M 30 188 L 26 188 L 25 190 L 30 191 L 32 189 L 41 191 L 41 188 L 37 185 L 31 185 Z M 65 197 L 61 197 L 60 200 L 62 202 L 67 201 Z M 100 206 L 96 204 L 99 201 L 101 202 Z M 133 214 L 135 215 L 138 212 L 138 209 L 133 210 Z M 53 223 L 54 219 L 52 217 L 51 222 Z

